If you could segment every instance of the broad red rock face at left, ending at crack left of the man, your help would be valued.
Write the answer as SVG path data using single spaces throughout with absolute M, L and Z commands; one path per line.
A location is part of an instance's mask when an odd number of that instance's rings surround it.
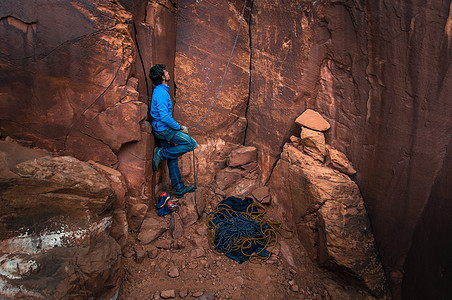
M 135 120 L 127 129 L 134 134 L 118 140 L 124 143 L 137 140 L 146 116 L 127 85 L 135 51 L 127 28 L 131 15 L 112 2 L 42 0 L 3 1 L 0 16 L 0 130 L 115 164 L 120 145 L 111 143 L 111 124 L 101 119 L 112 113 Z

